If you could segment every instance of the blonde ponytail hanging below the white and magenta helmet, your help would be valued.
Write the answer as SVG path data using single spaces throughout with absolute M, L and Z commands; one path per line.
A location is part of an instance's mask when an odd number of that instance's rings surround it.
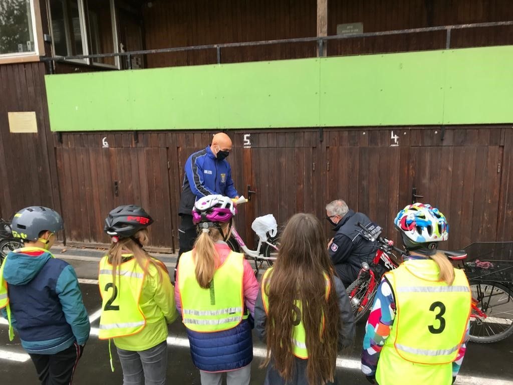
M 228 223 L 220 223 L 223 231 L 227 226 Z M 215 249 L 214 242 L 223 238 L 224 236 L 218 228 L 210 227 L 208 232 L 202 229 L 200 235 L 196 238 L 196 242 L 194 242 L 194 248 L 192 249 L 192 258 L 196 263 L 194 272 L 196 281 L 203 288 L 210 287 L 215 270 L 219 267 L 219 254 Z

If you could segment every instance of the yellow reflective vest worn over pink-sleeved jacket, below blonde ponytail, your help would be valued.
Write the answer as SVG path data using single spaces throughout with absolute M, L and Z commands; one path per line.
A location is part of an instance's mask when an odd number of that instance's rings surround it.
M 230 252 L 216 269 L 210 288 L 196 280 L 193 251 L 182 254 L 179 262 L 178 288 L 182 302 L 182 322 L 187 329 L 200 333 L 234 328 L 248 317 L 244 314 L 244 255 Z

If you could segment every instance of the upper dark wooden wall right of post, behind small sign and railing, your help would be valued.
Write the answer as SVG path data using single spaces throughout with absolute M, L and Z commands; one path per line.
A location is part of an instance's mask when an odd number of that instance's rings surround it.
M 364 32 L 513 20 L 509 0 L 347 0 L 328 1 L 328 35 L 337 24 L 363 23 Z M 445 48 L 446 33 L 352 38 L 329 42 L 328 54 L 362 54 Z M 513 44 L 513 26 L 451 32 L 451 48 Z

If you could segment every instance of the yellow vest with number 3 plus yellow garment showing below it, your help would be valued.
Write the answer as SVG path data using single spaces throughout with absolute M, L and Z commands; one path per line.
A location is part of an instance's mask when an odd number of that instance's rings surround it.
M 401 372 L 401 378 L 407 379 L 404 383 L 422 373 L 429 373 L 431 383 L 450 380 L 451 363 L 470 316 L 471 293 L 463 271 L 455 269 L 455 280 L 447 285 L 416 276 L 411 264 L 417 270 L 423 264 L 422 271 L 438 272 L 436 262 L 429 259 L 405 261 L 385 275 L 392 285 L 396 317 L 378 362 L 377 379 L 383 385 L 403 383 L 394 375 L 386 376 L 391 381 L 382 381 L 382 374 L 390 370 Z

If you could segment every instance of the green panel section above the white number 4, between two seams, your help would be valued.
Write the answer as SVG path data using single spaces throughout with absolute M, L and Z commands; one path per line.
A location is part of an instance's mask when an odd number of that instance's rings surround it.
M 444 51 L 322 59 L 321 125 L 441 124 L 443 68 Z

